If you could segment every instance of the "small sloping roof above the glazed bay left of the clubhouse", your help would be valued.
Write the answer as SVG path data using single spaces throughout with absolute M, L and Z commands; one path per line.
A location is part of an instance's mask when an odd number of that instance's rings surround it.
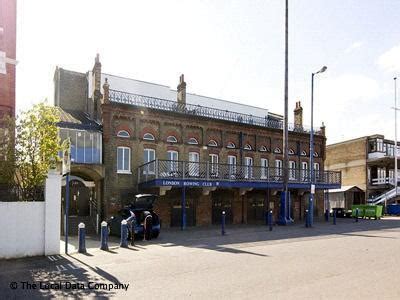
M 82 130 L 101 130 L 101 125 L 82 111 L 62 109 L 59 106 L 56 106 L 56 108 L 60 112 L 61 119 L 57 124 L 58 127 Z

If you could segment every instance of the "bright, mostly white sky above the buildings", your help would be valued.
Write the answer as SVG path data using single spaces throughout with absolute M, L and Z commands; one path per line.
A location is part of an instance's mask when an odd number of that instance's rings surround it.
M 18 0 L 17 110 L 53 103 L 56 66 L 86 72 L 99 53 L 104 73 L 173 89 L 184 73 L 187 92 L 283 114 L 284 12 L 284 0 Z M 314 125 L 328 144 L 394 139 L 399 12 L 399 0 L 289 0 L 289 121 L 301 101 L 310 124 L 311 73 L 326 65 Z

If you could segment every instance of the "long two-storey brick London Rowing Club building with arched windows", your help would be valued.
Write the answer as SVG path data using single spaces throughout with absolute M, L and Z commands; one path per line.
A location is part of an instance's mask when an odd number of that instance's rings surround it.
M 75 207 L 79 201 L 93 202 L 105 218 L 134 193 L 151 192 L 160 195 L 155 210 L 163 226 L 218 223 L 223 210 L 228 223 L 262 222 L 267 209 L 278 217 L 282 116 L 186 93 L 183 75 L 172 90 L 103 74 L 98 56 L 91 72 L 57 68 L 54 81 L 61 136 L 73 138 Z M 288 215 L 299 220 L 310 191 L 310 145 L 300 102 L 294 114 Z M 324 211 L 323 191 L 340 187 L 340 173 L 324 171 L 325 143 L 322 127 L 316 130 L 313 154 L 316 215 Z M 92 208 L 85 211 L 90 214 Z

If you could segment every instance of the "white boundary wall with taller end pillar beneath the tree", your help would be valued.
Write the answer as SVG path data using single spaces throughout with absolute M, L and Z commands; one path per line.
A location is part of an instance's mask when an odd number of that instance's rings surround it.
M 0 202 L 0 258 L 60 253 L 61 175 L 49 173 L 43 202 Z

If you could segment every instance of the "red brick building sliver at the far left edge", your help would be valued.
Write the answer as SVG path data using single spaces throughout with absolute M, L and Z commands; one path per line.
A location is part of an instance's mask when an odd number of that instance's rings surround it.
M 16 0 L 0 0 L 0 119 L 15 116 Z

